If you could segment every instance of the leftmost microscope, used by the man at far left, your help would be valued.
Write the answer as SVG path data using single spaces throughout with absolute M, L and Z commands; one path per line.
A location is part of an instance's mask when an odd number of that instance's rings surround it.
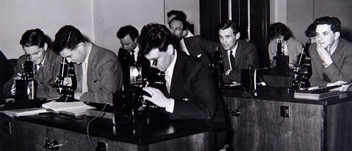
M 16 101 L 34 100 L 36 99 L 36 89 L 33 74 L 36 74 L 37 66 L 31 61 L 31 56 L 27 55 L 22 67 L 24 68 L 24 73 L 21 76 L 21 80 L 15 81 L 16 95 L 14 98 Z

